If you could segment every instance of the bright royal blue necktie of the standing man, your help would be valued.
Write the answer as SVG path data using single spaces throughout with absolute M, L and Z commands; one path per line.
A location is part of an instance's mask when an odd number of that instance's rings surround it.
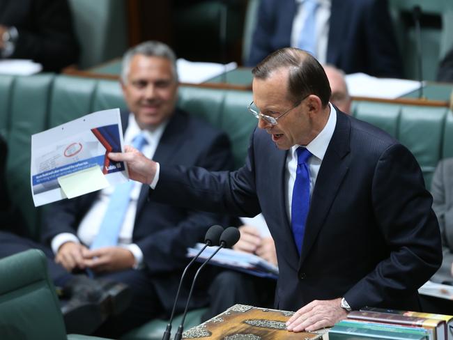
M 298 153 L 298 168 L 291 203 L 291 229 L 293 230 L 295 246 L 300 255 L 304 240 L 305 222 L 310 206 L 310 173 L 307 160 L 312 153 L 306 148 L 298 148 L 296 152 Z

